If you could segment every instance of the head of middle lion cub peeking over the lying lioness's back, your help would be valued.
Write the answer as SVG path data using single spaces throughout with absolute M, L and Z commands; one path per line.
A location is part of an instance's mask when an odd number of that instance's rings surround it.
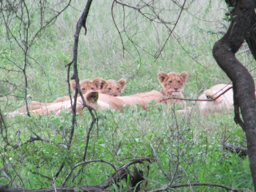
M 121 92 L 125 86 L 125 79 L 119 79 L 118 81 L 109 79 L 104 80 L 101 78 L 100 91 L 101 93 L 112 95 L 112 96 L 120 96 Z

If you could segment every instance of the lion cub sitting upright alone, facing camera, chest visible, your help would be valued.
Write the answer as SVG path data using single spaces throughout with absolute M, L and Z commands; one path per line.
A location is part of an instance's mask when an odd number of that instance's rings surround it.
M 181 90 L 184 83 L 186 82 L 187 76 L 188 73 L 186 71 L 183 71 L 180 74 L 174 72 L 170 72 L 167 74 L 163 71 L 160 71 L 158 73 L 158 80 L 162 85 L 160 93 L 162 93 L 165 98 L 170 98 L 165 100 L 167 108 L 169 108 L 170 105 L 174 103 L 182 103 L 184 105 L 184 108 L 186 107 L 185 101 L 179 99 L 184 99 Z

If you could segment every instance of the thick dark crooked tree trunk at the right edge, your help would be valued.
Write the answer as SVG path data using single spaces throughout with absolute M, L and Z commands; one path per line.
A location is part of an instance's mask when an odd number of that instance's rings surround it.
M 227 2 L 227 1 L 226 1 Z M 229 1 L 233 2 L 233 1 Z M 254 80 L 235 53 L 255 30 L 255 0 L 235 1 L 227 33 L 213 46 L 213 56 L 233 83 L 235 122 L 245 131 L 250 169 L 256 190 L 256 101 Z M 255 40 L 254 40 L 255 41 Z M 250 48 L 255 46 L 253 41 Z M 255 50 L 252 50 L 255 52 Z M 240 116 L 242 115 L 242 119 Z

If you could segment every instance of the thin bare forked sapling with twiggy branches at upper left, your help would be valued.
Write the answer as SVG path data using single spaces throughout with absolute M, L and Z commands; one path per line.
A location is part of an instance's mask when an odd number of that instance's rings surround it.
M 31 28 L 31 25 L 34 23 L 34 18 L 33 18 L 33 11 L 31 7 L 27 6 L 27 2 L 25 1 L 9 1 L 7 0 L 5 3 L 1 2 L 1 17 L 3 18 L 5 28 L 6 28 L 6 33 L 7 37 L 10 42 L 10 47 L 12 44 L 11 38 L 14 39 L 14 42 L 16 45 L 22 50 L 24 54 L 23 58 L 23 66 L 20 67 L 18 63 L 11 61 L 11 59 L 7 58 L 10 62 L 12 62 L 16 67 L 18 67 L 21 72 L 23 73 L 24 77 L 24 100 L 25 100 L 25 106 L 26 106 L 26 111 L 27 115 L 30 116 L 29 114 L 29 109 L 28 109 L 28 102 L 27 102 L 27 88 L 28 88 L 28 82 L 27 82 L 27 74 L 26 74 L 26 69 L 27 69 L 27 64 L 28 64 L 28 57 L 33 59 L 32 57 L 29 56 L 29 50 L 32 47 L 35 39 L 42 35 L 43 30 L 49 25 L 52 25 L 57 17 L 70 5 L 71 0 L 67 3 L 67 5 L 60 11 L 54 11 L 55 14 L 51 18 L 49 18 L 47 21 L 47 17 L 45 16 L 45 10 L 50 9 L 51 12 L 53 12 L 53 9 L 49 7 L 46 7 L 48 5 L 47 1 L 40 1 L 40 27 L 39 29 L 30 37 L 30 31 L 33 31 Z M 18 20 L 19 21 L 19 29 L 18 29 L 18 35 L 16 35 L 12 31 L 12 20 Z M 12 48 L 11 48 L 12 50 Z M 33 59 L 36 61 L 35 59 Z M 37 63 L 38 64 L 38 63 Z

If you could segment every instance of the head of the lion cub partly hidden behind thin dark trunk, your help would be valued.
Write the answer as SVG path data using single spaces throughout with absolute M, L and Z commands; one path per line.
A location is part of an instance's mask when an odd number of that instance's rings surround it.
M 80 89 L 81 89 L 82 94 L 99 90 L 100 83 L 101 83 L 100 78 L 95 78 L 92 81 L 90 81 L 88 79 L 84 79 L 84 80 L 80 81 L 79 84 L 80 84 Z M 71 85 L 72 90 L 75 91 L 76 90 L 75 80 L 71 80 L 70 85 Z

